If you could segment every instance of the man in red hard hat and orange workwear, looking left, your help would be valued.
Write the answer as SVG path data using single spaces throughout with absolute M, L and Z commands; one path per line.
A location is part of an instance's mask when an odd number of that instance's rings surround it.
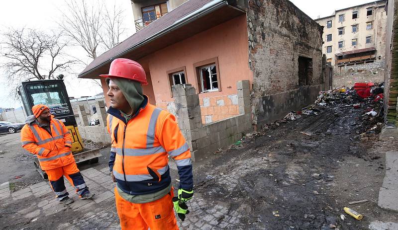
M 141 84 L 147 84 L 140 64 L 115 59 L 106 77 L 111 136 L 109 169 L 115 187 L 116 209 L 122 230 L 178 230 L 173 205 L 184 221 L 186 202 L 193 196 L 191 152 L 169 112 L 148 103 Z M 174 197 L 169 156 L 180 175 Z

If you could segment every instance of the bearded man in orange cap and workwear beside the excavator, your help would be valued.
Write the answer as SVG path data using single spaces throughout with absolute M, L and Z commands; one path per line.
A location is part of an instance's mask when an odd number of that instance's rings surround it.
M 74 202 L 66 191 L 64 176 L 76 188 L 80 199 L 92 198 L 95 194 L 90 193 L 73 158 L 69 130 L 51 115 L 46 105 L 34 105 L 32 112 L 33 115 L 27 117 L 21 130 L 22 147 L 37 155 L 40 167 L 48 175 L 56 200 L 66 205 Z

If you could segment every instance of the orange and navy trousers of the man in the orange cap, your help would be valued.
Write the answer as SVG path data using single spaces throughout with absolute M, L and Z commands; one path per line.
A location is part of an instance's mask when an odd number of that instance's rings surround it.
M 55 193 L 55 198 L 58 201 L 69 195 L 64 184 L 64 176 L 69 183 L 76 188 L 76 193 L 79 196 L 86 193 L 89 189 L 75 162 L 45 171 L 50 181 L 51 188 Z

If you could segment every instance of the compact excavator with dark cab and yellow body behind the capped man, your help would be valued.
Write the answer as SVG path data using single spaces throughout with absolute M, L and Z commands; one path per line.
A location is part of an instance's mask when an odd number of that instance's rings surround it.
M 71 151 L 76 163 L 87 161 L 97 163 L 101 156 L 100 149 L 86 150 L 84 148 L 63 77 L 63 75 L 59 75 L 57 79 L 21 82 L 17 91 L 23 104 L 23 110 L 27 116 L 30 116 L 32 115 L 31 108 L 33 105 L 47 105 L 50 108 L 50 113 L 62 121 L 71 132 Z M 37 157 L 34 158 L 33 162 L 40 175 L 47 179 L 47 174 L 41 169 Z

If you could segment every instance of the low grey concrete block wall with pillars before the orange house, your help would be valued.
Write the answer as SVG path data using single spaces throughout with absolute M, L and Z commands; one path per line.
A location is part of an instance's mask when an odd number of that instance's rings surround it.
M 253 130 L 250 114 L 249 80 L 237 82 L 240 114 L 209 124 L 202 124 L 199 95 L 191 84 L 172 87 L 176 117 L 181 132 L 187 140 L 193 160 L 200 160 L 218 148 L 240 140 Z

